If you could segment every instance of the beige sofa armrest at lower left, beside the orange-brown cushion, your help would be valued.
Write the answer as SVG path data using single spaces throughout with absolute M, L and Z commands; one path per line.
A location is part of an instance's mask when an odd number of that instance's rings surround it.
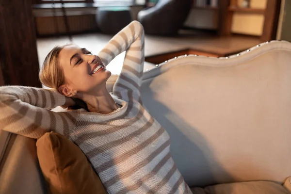
M 35 140 L 0 130 L 0 193 L 46 194 Z

